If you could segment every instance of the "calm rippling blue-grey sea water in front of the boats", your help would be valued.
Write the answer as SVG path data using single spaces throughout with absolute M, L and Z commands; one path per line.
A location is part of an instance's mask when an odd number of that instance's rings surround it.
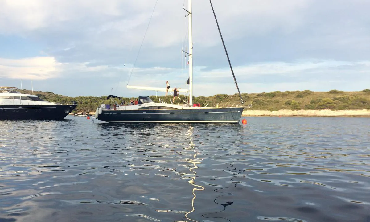
M 370 222 L 370 118 L 0 121 L 0 222 Z

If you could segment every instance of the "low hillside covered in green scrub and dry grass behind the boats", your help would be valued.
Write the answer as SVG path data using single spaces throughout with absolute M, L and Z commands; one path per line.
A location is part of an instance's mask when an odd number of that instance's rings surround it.
M 22 90 L 23 93 L 32 94 L 30 90 Z M 51 102 L 71 102 L 77 101 L 78 107 L 76 111 L 95 111 L 95 109 L 105 101 L 106 96 L 92 97 L 92 96 L 79 96 L 67 97 L 64 95 L 54 94 L 53 92 L 34 91 L 34 95 Z M 186 100 L 183 95 L 179 97 Z M 132 97 L 133 99 L 135 97 Z M 159 101 L 161 98 L 165 102 L 170 103 L 172 95 L 156 97 L 151 96 L 153 101 Z M 275 91 L 263 93 L 243 93 L 242 98 L 245 105 L 252 104 L 251 110 L 359 110 L 370 109 L 370 90 L 362 90 L 357 92 L 344 92 L 339 90 L 330 90 L 329 92 L 313 92 L 310 90 L 305 91 Z M 124 97 L 123 100 L 128 102 L 131 98 Z M 226 95 L 217 94 L 213 96 L 198 96 L 194 97 L 194 103 L 200 103 L 202 106 L 220 107 L 240 105 L 240 98 L 238 94 Z M 118 101 L 118 100 L 117 100 Z M 118 101 L 119 102 L 119 101 Z M 179 99 L 175 102 L 181 102 Z M 112 102 L 110 102 L 112 103 Z

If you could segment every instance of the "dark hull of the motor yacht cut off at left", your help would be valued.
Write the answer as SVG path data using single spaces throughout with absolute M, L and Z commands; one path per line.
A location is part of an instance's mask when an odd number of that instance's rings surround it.
M 71 105 L 0 105 L 0 120 L 63 120 L 77 107 Z

